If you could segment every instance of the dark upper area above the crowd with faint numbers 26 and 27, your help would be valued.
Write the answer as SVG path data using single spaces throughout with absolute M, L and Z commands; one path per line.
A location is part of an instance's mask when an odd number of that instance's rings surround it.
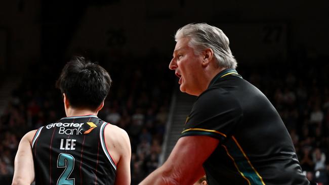
M 74 54 L 106 63 L 157 54 L 153 63 L 169 63 L 175 31 L 192 22 L 221 28 L 240 65 L 295 62 L 327 56 L 328 10 L 324 0 L 2 1 L 0 69 L 62 66 Z

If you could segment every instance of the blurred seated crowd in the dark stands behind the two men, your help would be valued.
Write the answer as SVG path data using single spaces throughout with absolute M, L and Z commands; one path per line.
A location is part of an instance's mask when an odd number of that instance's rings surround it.
M 132 145 L 132 184 L 158 166 L 175 74 L 168 63 L 113 63 L 108 69 L 113 86 L 99 117 L 125 129 Z M 65 117 L 59 75 L 47 66 L 32 67 L 13 91 L 0 117 L 0 183 L 10 184 L 19 141 L 28 130 Z M 295 145 L 309 180 L 328 184 L 329 65 L 320 62 L 278 66 L 241 65 L 242 77 L 270 99 Z

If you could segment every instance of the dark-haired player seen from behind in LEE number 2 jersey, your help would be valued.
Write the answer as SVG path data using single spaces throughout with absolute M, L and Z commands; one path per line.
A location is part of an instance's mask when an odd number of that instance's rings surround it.
M 13 184 L 130 184 L 126 131 L 97 117 L 111 78 L 77 57 L 57 81 L 66 116 L 25 134 L 15 157 Z

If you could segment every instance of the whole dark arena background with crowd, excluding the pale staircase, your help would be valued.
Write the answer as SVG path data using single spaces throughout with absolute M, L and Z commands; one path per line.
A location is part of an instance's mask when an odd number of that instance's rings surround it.
M 329 1 L 321 0 L 0 1 L 0 86 L 21 79 L 2 97 L 10 101 L 0 115 L 0 183 L 11 182 L 22 135 L 65 116 L 55 81 L 74 55 L 109 71 L 99 117 L 119 115 L 132 143 L 132 184 L 140 182 L 158 165 L 178 89 L 168 69 L 174 34 L 192 22 L 224 31 L 237 71 L 278 110 L 305 174 L 328 184 Z

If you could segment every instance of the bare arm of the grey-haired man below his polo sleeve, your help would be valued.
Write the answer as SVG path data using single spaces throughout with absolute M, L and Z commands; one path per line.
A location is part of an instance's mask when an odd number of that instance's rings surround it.
M 193 184 L 204 175 L 202 164 L 213 153 L 218 143 L 219 140 L 209 136 L 181 137 L 168 160 L 147 176 L 140 185 Z

